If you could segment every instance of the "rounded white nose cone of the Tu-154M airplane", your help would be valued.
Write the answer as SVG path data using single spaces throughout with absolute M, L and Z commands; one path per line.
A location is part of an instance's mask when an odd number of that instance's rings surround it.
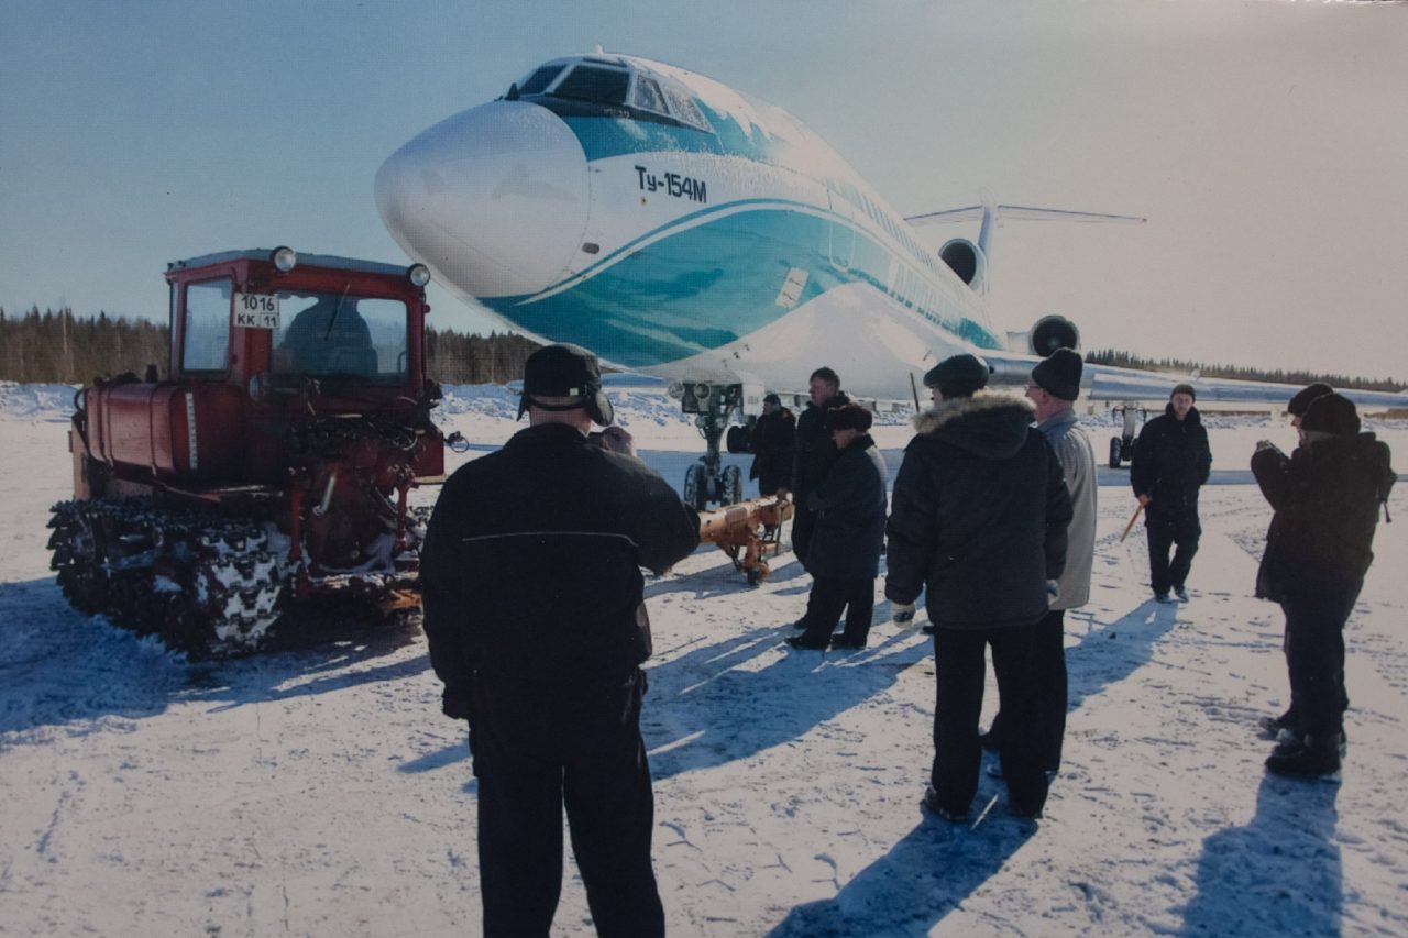
M 490 101 L 429 128 L 382 165 L 376 207 L 441 283 L 476 297 L 536 293 L 582 249 L 590 182 L 552 111 Z

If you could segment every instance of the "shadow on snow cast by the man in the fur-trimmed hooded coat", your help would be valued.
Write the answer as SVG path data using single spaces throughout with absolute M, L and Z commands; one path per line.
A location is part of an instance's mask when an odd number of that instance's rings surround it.
M 977 830 L 921 820 L 836 896 L 797 906 L 769 935 L 925 935 L 1002 869 L 1035 831 L 1035 824 L 1007 818 Z

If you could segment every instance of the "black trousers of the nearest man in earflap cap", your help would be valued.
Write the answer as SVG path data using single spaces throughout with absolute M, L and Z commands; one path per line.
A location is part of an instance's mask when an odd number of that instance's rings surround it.
M 560 686 L 474 682 L 484 935 L 548 935 L 562 892 L 562 810 L 598 935 L 663 935 L 641 670 Z

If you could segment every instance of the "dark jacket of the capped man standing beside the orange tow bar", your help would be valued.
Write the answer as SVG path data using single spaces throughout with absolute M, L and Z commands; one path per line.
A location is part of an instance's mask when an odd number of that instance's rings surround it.
M 870 434 L 856 437 L 807 496 L 817 530 L 807 552 L 807 570 L 838 580 L 874 579 L 884 544 L 884 458 Z

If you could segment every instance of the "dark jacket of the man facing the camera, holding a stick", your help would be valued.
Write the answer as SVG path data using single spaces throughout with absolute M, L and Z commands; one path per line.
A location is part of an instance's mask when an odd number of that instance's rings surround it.
M 1187 417 L 1173 415 L 1173 404 L 1163 408 L 1163 417 L 1145 424 L 1135 442 L 1129 462 L 1129 484 L 1135 494 L 1148 494 L 1146 524 L 1160 518 L 1198 513 L 1198 489 L 1207 484 L 1212 472 L 1212 449 L 1208 431 L 1197 407 Z

